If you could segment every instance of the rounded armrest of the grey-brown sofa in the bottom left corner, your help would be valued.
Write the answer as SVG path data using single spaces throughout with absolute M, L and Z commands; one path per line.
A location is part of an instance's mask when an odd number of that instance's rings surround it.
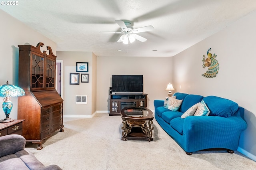
M 25 148 L 26 139 L 19 134 L 0 137 L 0 157 L 14 154 Z

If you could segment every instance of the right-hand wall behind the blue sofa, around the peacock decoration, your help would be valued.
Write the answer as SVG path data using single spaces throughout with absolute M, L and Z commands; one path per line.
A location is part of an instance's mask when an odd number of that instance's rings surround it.
M 252 156 L 256 155 L 255 18 L 255 12 L 249 14 L 173 59 L 175 89 L 203 96 L 216 95 L 244 107 L 248 127 L 240 136 L 239 147 Z M 202 56 L 207 56 L 210 47 L 220 64 L 215 78 L 201 75 L 207 70 L 202 68 Z

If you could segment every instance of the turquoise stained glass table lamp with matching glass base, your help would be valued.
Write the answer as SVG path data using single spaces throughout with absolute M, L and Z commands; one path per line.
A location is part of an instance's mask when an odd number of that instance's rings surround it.
M 4 97 L 2 107 L 6 115 L 6 118 L 0 121 L 1 123 L 14 121 L 14 119 L 9 117 L 12 111 L 11 97 L 19 97 L 24 95 L 25 91 L 23 89 L 15 85 L 10 85 L 8 81 L 5 85 L 0 86 L 0 97 Z

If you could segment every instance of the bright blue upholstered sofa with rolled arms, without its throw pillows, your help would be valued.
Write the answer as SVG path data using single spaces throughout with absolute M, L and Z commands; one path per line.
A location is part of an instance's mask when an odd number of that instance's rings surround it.
M 244 108 L 237 103 L 216 96 L 203 97 L 186 93 L 174 93 L 183 100 L 178 111 L 163 107 L 164 100 L 154 100 L 155 118 L 158 124 L 183 148 L 186 154 L 199 150 L 227 150 L 234 153 L 240 134 L 247 124 L 243 119 Z M 190 107 L 204 101 L 208 116 L 181 115 Z

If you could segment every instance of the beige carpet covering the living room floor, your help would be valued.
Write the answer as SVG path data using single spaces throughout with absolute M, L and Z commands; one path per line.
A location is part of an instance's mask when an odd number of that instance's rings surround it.
M 36 150 L 26 150 L 44 165 L 64 170 L 170 170 L 170 169 L 256 169 L 256 162 L 235 151 L 194 152 L 184 150 L 154 120 L 153 141 L 122 141 L 122 119 L 97 113 L 93 118 L 64 118 L 64 132 L 56 132 Z

